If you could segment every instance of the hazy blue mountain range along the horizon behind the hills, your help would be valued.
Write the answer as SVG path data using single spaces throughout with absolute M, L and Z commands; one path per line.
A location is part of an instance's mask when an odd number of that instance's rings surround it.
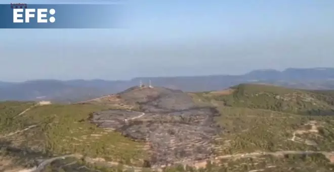
M 106 94 L 114 94 L 140 80 L 152 81 L 153 86 L 180 89 L 187 92 L 223 90 L 239 83 L 269 83 L 291 88 L 334 89 L 334 68 L 287 68 L 254 70 L 243 75 L 138 77 L 131 80 L 29 80 L 25 82 L 0 81 L 0 101 L 51 100 L 74 102 Z

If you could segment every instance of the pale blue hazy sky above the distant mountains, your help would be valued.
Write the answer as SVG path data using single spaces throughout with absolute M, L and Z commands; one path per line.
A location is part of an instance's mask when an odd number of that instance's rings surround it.
M 126 7 L 124 28 L 0 29 L 0 80 L 126 80 L 334 67 L 332 0 L 118 2 Z

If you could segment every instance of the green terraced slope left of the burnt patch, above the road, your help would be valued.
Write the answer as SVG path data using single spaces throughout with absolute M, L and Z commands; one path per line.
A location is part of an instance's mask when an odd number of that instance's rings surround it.
M 2 146 L 33 149 L 46 155 L 78 153 L 141 165 L 142 162 L 138 160 L 145 155 L 143 143 L 131 141 L 113 131 L 102 130 L 86 121 L 90 113 L 105 107 L 52 104 L 32 107 L 18 116 L 32 105 L 30 102 L 0 103 Z

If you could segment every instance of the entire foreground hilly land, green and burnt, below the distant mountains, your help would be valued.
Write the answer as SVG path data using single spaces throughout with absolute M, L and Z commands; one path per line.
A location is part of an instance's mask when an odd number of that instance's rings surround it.
M 333 93 L 239 84 L 2 102 L 0 171 L 332 171 Z

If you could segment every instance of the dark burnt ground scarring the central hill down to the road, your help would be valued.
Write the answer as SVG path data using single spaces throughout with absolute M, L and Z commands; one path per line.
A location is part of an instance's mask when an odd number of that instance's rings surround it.
M 91 121 L 126 137 L 146 141 L 152 166 L 200 160 L 215 152 L 215 139 L 222 128 L 214 117 L 220 113 L 214 107 L 196 105 L 182 91 L 133 87 L 104 99 L 136 106 L 137 110 L 95 112 Z

